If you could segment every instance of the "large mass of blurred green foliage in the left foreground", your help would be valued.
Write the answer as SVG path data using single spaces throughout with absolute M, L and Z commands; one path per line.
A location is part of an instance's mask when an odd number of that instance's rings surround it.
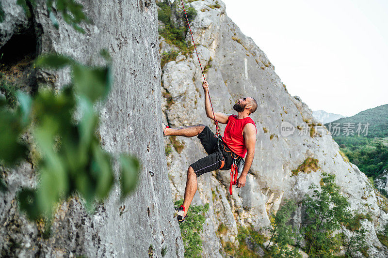
M 106 51 L 101 53 L 107 58 Z M 92 210 L 94 201 L 106 198 L 113 186 L 113 157 L 102 150 L 96 136 L 98 115 L 94 104 L 104 100 L 111 83 L 111 62 L 103 67 L 87 67 L 70 58 L 49 54 L 39 57 L 36 67 L 60 69 L 69 66 L 72 81 L 62 91 L 39 91 L 32 98 L 17 92 L 18 106 L 10 109 L 0 101 L 0 161 L 14 166 L 27 159 L 28 146 L 21 135 L 31 133 L 39 152 L 36 189 L 18 193 L 21 210 L 30 219 L 51 218 L 56 204 L 78 193 Z M 75 119 L 77 117 L 78 119 Z M 139 162 L 122 154 L 120 185 L 126 197 L 138 182 Z

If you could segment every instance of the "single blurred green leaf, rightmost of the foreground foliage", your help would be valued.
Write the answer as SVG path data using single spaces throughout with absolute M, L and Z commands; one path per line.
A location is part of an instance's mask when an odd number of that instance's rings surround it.
M 136 187 L 139 180 L 140 164 L 136 158 L 125 154 L 120 156 L 119 161 L 121 195 L 125 197 Z

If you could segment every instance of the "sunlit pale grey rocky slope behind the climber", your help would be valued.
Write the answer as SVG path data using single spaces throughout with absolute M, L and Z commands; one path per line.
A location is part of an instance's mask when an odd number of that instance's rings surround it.
M 269 226 L 269 213 L 276 211 L 284 198 L 301 202 L 306 193 L 311 193 L 308 187 L 312 183 L 319 185 L 322 172 L 336 175 L 336 183 L 348 197 L 352 210 L 372 213 L 373 223 L 368 224 L 369 252 L 374 257 L 386 257 L 388 250 L 374 232 L 387 223 L 388 215 L 382 209 L 387 205 L 385 199 L 355 165 L 341 156 L 338 144 L 325 127 L 316 126 L 311 131 L 318 123 L 312 111 L 299 97 L 288 93 L 266 55 L 230 20 L 225 4 L 218 3 L 219 7 L 214 0 L 187 3 L 197 11 L 191 23 L 194 40 L 202 67 L 208 67 L 205 76 L 215 111 L 233 114 L 232 106 L 238 98 L 251 96 L 257 100 L 258 109 L 251 115 L 257 126 L 257 142 L 247 183 L 241 189 L 234 188 L 232 196 L 228 193 L 228 171 L 214 171 L 198 178 L 194 204 L 210 204 L 203 233 L 203 257 L 221 257 L 222 243 L 238 244 L 237 225 L 251 225 L 257 230 Z M 175 8 L 181 8 L 179 4 Z M 189 33 L 186 40 L 191 40 Z M 170 49 L 174 46 L 161 38 L 161 53 Z M 162 70 L 162 109 L 169 125 L 206 124 L 215 129 L 205 114 L 203 78 L 195 52 L 192 56 L 178 55 Z M 285 125 L 293 128 L 291 135 L 284 134 Z M 165 141 L 166 148 L 177 144 L 184 148 L 177 148 L 179 152 L 172 148 L 167 162 L 173 198 L 180 199 L 187 168 L 206 153 L 196 137 Z M 319 169 L 293 175 L 291 170 L 308 157 L 319 161 Z M 298 214 L 295 219 L 301 221 Z M 217 228 L 221 224 L 228 230 L 220 235 Z

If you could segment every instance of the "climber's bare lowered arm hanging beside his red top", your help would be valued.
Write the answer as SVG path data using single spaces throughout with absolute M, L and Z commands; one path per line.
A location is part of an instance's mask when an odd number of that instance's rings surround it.
M 247 123 L 243 130 L 246 157 L 244 167 L 240 177 L 237 179 L 237 188 L 243 187 L 246 182 L 246 175 L 248 174 L 249 168 L 252 166 L 253 157 L 255 156 L 255 145 L 256 145 L 256 127 L 253 123 Z

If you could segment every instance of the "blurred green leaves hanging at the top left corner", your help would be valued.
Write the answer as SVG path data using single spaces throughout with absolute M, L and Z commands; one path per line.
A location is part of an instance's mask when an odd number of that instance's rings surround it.
M 36 6 L 36 0 L 17 0 L 16 3 L 23 7 L 27 17 L 31 17 L 31 8 Z M 55 17 L 55 13 L 61 13 L 65 22 L 81 33 L 84 30 L 79 24 L 89 22 L 86 15 L 82 12 L 83 6 L 75 0 L 46 0 L 49 17 L 54 27 L 58 28 L 59 24 Z

